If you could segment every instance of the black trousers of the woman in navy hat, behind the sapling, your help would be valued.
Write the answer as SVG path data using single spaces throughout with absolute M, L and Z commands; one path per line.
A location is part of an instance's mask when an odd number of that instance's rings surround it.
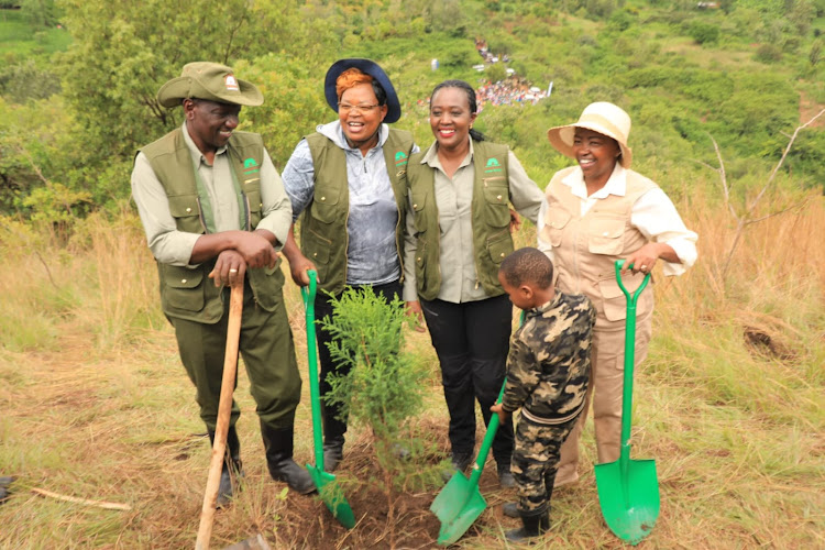
M 348 288 L 365 288 L 365 287 L 372 287 L 373 292 L 376 296 L 383 296 L 384 299 L 387 300 L 387 304 L 392 302 L 393 299 L 398 296 L 402 296 L 402 285 L 398 280 L 394 280 L 392 283 L 386 283 L 384 285 L 348 285 Z M 341 295 L 339 294 L 336 296 L 336 298 L 340 298 Z M 336 373 L 337 375 L 341 374 L 349 374 L 350 366 L 342 364 L 338 361 L 333 361 L 332 356 L 329 352 L 329 348 L 327 344 L 329 342 L 332 342 L 333 338 L 332 336 L 321 326 L 320 321 L 324 317 L 330 317 L 334 320 L 332 316 L 332 298 L 329 294 L 326 293 L 318 293 L 315 298 L 315 316 L 316 320 L 318 321 L 316 323 L 316 339 L 318 340 L 318 362 L 321 366 L 321 373 L 320 373 L 320 382 L 319 382 L 319 388 L 321 397 L 323 397 L 327 392 L 330 391 L 330 384 L 327 382 L 327 376 L 330 373 Z M 324 440 L 329 441 L 334 438 L 342 437 L 346 432 L 346 419 L 342 417 L 341 415 L 341 408 L 339 405 L 328 405 L 321 402 L 322 408 L 323 408 L 323 436 Z

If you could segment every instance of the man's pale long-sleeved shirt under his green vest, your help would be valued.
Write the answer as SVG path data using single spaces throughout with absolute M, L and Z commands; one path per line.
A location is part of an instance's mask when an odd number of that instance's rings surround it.
M 227 147 L 220 147 L 215 153 L 213 163 L 210 165 L 189 136 L 186 122 L 183 125 L 183 133 L 194 165 L 198 166 L 197 177 L 204 183 L 209 195 L 216 232 L 241 229 L 239 204 L 232 183 L 232 161 L 227 154 Z M 277 250 L 280 250 L 289 231 L 292 208 L 280 176 L 266 150 L 264 150 L 260 175 L 263 211 L 256 229 L 271 231 L 278 240 Z M 169 211 L 166 191 L 143 153 L 139 153 L 134 161 L 132 196 L 146 231 L 148 248 L 155 258 L 170 265 L 189 265 L 195 241 L 200 234 L 177 230 L 175 218 Z

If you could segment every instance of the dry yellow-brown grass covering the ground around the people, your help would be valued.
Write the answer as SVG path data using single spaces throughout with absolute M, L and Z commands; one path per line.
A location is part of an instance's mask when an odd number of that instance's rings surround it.
M 702 235 L 701 261 L 685 276 L 656 285 L 653 342 L 637 377 L 632 455 L 656 459 L 662 510 L 640 547 L 823 548 L 825 255 L 818 245 L 825 202 L 809 197 L 803 208 L 748 228 L 726 280 L 718 273 L 734 226 L 711 204 L 697 191 L 679 205 Z M 0 221 L 7 260 L 0 475 L 18 477 L 0 505 L 0 548 L 191 547 L 208 440 L 158 311 L 153 262 L 134 216 L 87 220 L 63 249 L 44 233 Z M 534 235 L 525 227 L 518 242 L 530 244 Z M 286 300 L 306 377 L 300 297 L 292 285 Z M 438 442 L 446 407 L 435 355 L 426 334 L 413 334 L 410 345 L 433 365 L 420 421 Z M 273 548 L 307 548 L 300 529 L 330 519 L 318 502 L 285 494 L 268 480 L 254 403 L 240 373 L 245 490 L 217 515 L 213 546 L 262 532 Z M 311 461 L 308 395 L 297 422 L 298 461 Z M 364 433 L 354 436 L 353 459 L 369 447 Z M 590 431 L 584 446 L 593 457 Z M 537 548 L 622 546 L 601 518 L 585 466 L 579 484 L 554 495 L 553 532 Z M 132 509 L 50 499 L 32 487 Z M 503 531 L 515 526 L 497 508 L 512 495 L 482 488 L 490 509 L 461 548 L 502 548 Z M 316 522 L 302 524 L 307 517 Z M 370 538 L 341 529 L 337 546 L 367 548 Z

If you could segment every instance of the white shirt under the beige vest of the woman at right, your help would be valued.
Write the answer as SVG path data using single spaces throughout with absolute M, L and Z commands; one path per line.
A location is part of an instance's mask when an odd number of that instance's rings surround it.
M 627 170 L 616 163 L 610 178 L 604 187 L 587 196 L 587 187 L 584 184 L 584 174 L 576 167 L 564 179 L 562 185 L 570 187 L 571 193 L 581 199 L 580 215 L 584 216 L 601 199 L 609 195 L 624 197 L 627 189 Z M 552 260 L 552 245 L 541 239 L 541 229 L 544 227 L 547 216 L 547 200 L 541 202 L 541 211 L 538 221 L 538 248 L 544 251 Z M 681 260 L 681 263 L 663 262 L 662 273 L 664 275 L 681 275 L 696 262 L 696 241 L 698 235 L 690 231 L 676 208 L 668 195 L 660 189 L 651 189 L 636 201 L 630 210 L 630 224 L 638 229 L 648 241 L 661 242 L 670 245 Z

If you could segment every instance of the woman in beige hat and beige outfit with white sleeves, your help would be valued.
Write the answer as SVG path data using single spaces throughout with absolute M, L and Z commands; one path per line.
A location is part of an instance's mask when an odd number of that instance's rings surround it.
M 556 264 L 557 287 L 585 294 L 596 307 L 592 373 L 598 462 L 619 458 L 626 301 L 614 263 L 624 258 L 623 283 L 637 288 L 659 260 L 662 274 L 681 275 L 696 261 L 696 233 L 650 179 L 630 169 L 630 117 L 613 103 L 587 106 L 574 124 L 551 128 L 550 143 L 576 165 L 559 170 L 546 189 L 539 248 Z M 653 293 L 637 305 L 635 361 L 647 355 Z M 590 399 L 587 399 L 588 402 Z M 579 479 L 579 438 L 584 414 L 561 448 L 556 486 Z

